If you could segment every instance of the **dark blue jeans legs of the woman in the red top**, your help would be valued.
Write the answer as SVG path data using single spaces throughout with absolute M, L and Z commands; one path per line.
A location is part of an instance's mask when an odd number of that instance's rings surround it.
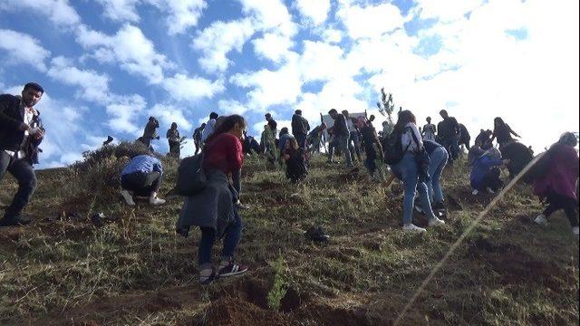
M 231 261 L 236 251 L 239 239 L 242 237 L 242 220 L 234 208 L 234 221 L 227 225 L 224 231 L 224 246 L 221 250 L 221 259 Z M 216 242 L 216 230 L 212 227 L 201 227 L 201 238 L 198 246 L 199 269 L 211 268 L 211 255 L 214 243 Z

